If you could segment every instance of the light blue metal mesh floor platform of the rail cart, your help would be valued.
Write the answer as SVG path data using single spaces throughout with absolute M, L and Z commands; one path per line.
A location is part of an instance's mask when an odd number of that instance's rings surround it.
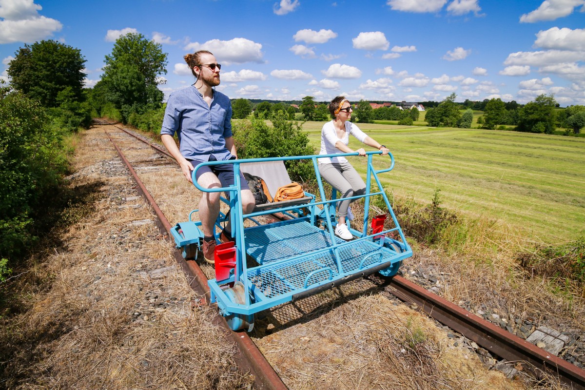
M 304 290 L 309 286 L 391 261 L 397 253 L 371 241 L 355 241 L 338 248 L 342 272 L 333 255 L 331 236 L 307 219 L 271 223 L 245 229 L 246 252 L 260 267 L 248 279 L 266 298 Z M 346 241 L 336 237 L 336 244 Z M 329 250 L 320 251 L 326 248 Z M 313 253 L 313 254 L 311 254 Z M 295 260 L 288 260 L 297 256 Z M 314 274 L 310 275 L 311 272 Z

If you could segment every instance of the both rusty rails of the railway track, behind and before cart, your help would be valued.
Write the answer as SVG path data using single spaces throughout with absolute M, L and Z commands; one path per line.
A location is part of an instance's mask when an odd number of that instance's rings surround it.
M 95 121 L 97 125 L 112 125 L 104 120 Z M 172 158 L 166 150 L 161 149 L 150 140 L 138 136 L 137 134 L 124 129 L 121 126 L 116 126 L 125 134 L 132 136 L 134 139 L 149 145 L 157 153 L 163 156 Z M 157 203 L 150 195 L 147 188 L 142 184 L 132 164 L 125 157 L 123 150 L 118 147 L 115 140 L 109 136 L 112 144 L 118 151 L 122 161 L 127 165 L 130 173 L 136 181 L 140 194 L 152 206 L 158 219 L 158 225 L 163 234 L 170 237 L 171 225 L 163 212 L 157 206 Z M 275 219 L 279 218 L 274 216 Z M 200 295 L 205 296 L 209 300 L 209 288 L 207 285 L 207 275 L 204 270 L 195 261 L 185 261 L 178 251 L 175 251 L 177 262 L 181 265 L 185 273 L 190 276 L 191 287 Z M 384 280 L 377 277 L 370 277 L 371 282 L 376 284 L 386 294 L 392 294 L 403 302 L 414 303 L 418 308 L 424 311 L 429 316 L 433 317 L 443 325 L 449 326 L 450 329 L 462 334 L 469 340 L 473 340 L 481 347 L 490 351 L 495 356 L 504 358 L 508 361 L 517 362 L 522 365 L 524 370 L 529 371 L 535 378 L 542 378 L 545 375 L 552 375 L 559 379 L 560 382 L 567 384 L 569 388 L 585 389 L 585 370 L 576 367 L 575 365 L 548 353 L 542 348 L 538 348 L 528 341 L 522 340 L 514 334 L 508 333 L 498 326 L 482 319 L 473 313 L 467 312 L 453 303 L 445 301 L 445 299 L 427 291 L 409 282 L 407 279 L 400 276 Z M 213 319 L 216 325 L 225 328 L 225 337 L 230 343 L 238 346 L 238 354 L 236 360 L 242 371 L 250 372 L 256 378 L 256 386 L 261 389 L 285 389 L 284 382 L 281 380 L 277 372 L 266 360 L 254 341 L 245 332 L 232 332 L 226 325 L 225 319 L 219 314 Z

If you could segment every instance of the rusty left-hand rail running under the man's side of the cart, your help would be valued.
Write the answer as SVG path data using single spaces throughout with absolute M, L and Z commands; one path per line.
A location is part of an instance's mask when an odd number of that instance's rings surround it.
M 154 198 L 152 195 L 150 195 L 148 189 L 146 189 L 142 180 L 140 180 L 136 174 L 136 171 L 132 167 L 132 164 L 130 161 L 128 161 L 122 150 L 118 147 L 118 145 L 116 145 L 112 137 L 107 132 L 105 133 L 118 152 L 118 156 L 121 158 L 126 167 L 128 167 L 133 180 L 136 182 L 137 191 L 140 193 L 140 195 L 143 196 L 144 199 L 146 199 L 146 202 L 152 206 L 153 211 L 157 216 L 157 226 L 159 226 L 163 236 L 165 236 L 167 240 L 172 241 L 170 238 L 170 229 L 172 226 L 168 222 L 166 216 L 164 216 L 162 210 L 156 204 Z M 207 277 L 201 270 L 201 267 L 199 267 L 195 260 L 185 260 L 178 252 L 178 250 L 174 251 L 174 257 L 177 260 L 177 263 L 181 265 L 183 271 L 188 275 L 190 287 L 197 291 L 199 295 L 205 296 L 205 303 L 209 305 L 210 292 L 207 285 Z M 238 364 L 238 367 L 242 372 L 250 372 L 252 375 L 254 375 L 254 385 L 257 388 L 270 390 L 288 389 L 282 379 L 278 376 L 277 372 L 274 371 L 274 368 L 266 360 L 266 357 L 264 357 L 256 344 L 254 344 L 254 341 L 250 339 L 250 336 L 248 336 L 246 332 L 233 332 L 231 329 L 229 329 L 225 318 L 219 315 L 218 311 L 216 311 L 215 316 L 212 318 L 212 323 L 222 326 L 225 329 L 223 334 L 226 340 L 229 343 L 235 344 L 237 346 L 235 355 L 236 364 Z

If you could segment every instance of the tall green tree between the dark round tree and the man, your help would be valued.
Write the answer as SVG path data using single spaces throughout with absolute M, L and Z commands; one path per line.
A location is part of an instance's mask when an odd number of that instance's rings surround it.
M 163 84 L 167 54 L 162 46 L 142 34 L 129 33 L 114 43 L 112 54 L 105 57 L 104 81 L 106 97 L 123 119 L 132 113 L 159 108 L 164 94 L 157 85 Z

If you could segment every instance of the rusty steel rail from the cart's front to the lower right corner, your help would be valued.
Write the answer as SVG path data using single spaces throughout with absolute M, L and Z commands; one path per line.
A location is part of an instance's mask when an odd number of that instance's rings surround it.
M 481 347 L 508 361 L 517 361 L 539 378 L 539 370 L 557 377 L 572 389 L 585 389 L 585 370 L 521 339 L 499 326 L 460 308 L 452 302 L 395 276 L 386 282 L 387 291 L 401 301 L 416 303 L 429 316 L 463 334 Z M 525 362 L 525 363 L 524 363 Z

